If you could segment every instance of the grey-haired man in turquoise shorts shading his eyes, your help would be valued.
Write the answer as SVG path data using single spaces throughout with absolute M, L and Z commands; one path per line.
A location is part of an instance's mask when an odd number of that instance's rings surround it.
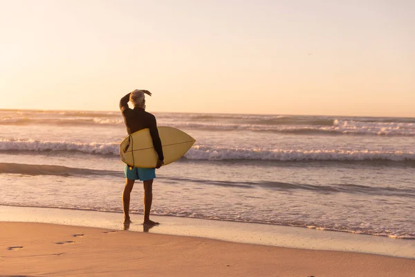
M 158 129 L 156 117 L 145 111 L 145 94 L 151 96 L 151 93 L 146 90 L 132 91 L 120 100 L 120 109 L 124 117 L 124 123 L 127 127 L 128 134 L 137 132 L 140 129 L 150 129 L 151 139 L 153 140 L 154 149 L 158 154 L 158 161 L 156 168 L 163 166 L 163 148 L 161 146 L 160 136 L 158 136 Z M 134 109 L 130 109 L 128 102 L 131 102 Z M 151 202 L 153 201 L 153 180 L 156 177 L 155 168 L 131 168 L 125 165 L 124 168 L 125 187 L 122 192 L 122 207 L 124 211 L 124 224 L 130 224 L 129 204 L 130 194 L 133 190 L 134 181 L 140 180 L 144 184 L 144 222 L 147 225 L 158 225 L 158 222 L 150 220 Z

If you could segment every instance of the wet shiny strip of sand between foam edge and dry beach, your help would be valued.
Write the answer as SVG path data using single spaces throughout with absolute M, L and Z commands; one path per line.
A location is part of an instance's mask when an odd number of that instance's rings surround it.
M 151 215 L 160 226 L 141 224 L 142 215 L 131 214 L 132 232 L 207 238 L 224 242 L 257 244 L 288 249 L 344 251 L 415 259 L 415 240 L 393 239 L 296 226 L 203 220 L 189 217 Z M 0 206 L 0 222 L 37 222 L 122 231 L 122 213 L 66 208 Z M 147 229 L 147 230 L 146 230 Z

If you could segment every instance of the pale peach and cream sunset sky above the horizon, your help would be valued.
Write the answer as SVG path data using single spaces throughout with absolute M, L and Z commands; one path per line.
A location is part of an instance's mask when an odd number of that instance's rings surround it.
M 415 117 L 412 0 L 0 0 L 0 109 Z

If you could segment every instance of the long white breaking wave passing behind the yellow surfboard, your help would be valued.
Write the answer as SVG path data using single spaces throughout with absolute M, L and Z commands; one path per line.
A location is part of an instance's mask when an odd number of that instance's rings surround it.
M 65 141 L 0 140 L 0 151 L 81 152 L 118 156 L 118 143 L 73 143 Z M 195 145 L 185 159 L 205 161 L 415 161 L 413 151 L 369 150 L 261 150 L 244 148 L 209 148 Z

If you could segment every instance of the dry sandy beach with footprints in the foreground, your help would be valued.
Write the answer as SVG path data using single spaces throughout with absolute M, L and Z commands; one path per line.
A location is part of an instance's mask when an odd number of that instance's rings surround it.
M 413 276 L 415 260 L 1 222 L 2 276 Z

